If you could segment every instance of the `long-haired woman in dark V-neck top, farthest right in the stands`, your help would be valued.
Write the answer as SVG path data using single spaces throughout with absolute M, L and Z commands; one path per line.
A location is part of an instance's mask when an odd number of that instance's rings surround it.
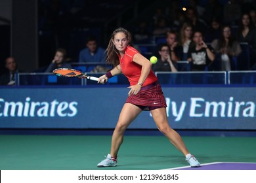
M 256 59 L 256 30 L 249 13 L 242 14 L 237 33 L 238 42 L 247 42 L 250 51 L 250 67 L 255 64 Z

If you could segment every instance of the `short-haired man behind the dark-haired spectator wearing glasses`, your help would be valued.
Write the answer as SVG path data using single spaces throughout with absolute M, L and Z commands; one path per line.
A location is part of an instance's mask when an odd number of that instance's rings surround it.
M 171 50 L 171 60 L 175 62 L 181 60 L 183 48 L 177 41 L 177 33 L 175 31 L 167 32 L 166 42 Z

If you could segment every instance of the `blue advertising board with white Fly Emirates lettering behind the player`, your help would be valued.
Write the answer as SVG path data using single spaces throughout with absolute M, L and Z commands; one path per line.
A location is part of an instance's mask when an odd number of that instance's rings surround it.
M 256 88 L 163 87 L 175 129 L 256 129 Z M 1 88 L 0 128 L 113 129 L 129 90 L 106 88 Z M 130 129 L 156 129 L 143 111 Z

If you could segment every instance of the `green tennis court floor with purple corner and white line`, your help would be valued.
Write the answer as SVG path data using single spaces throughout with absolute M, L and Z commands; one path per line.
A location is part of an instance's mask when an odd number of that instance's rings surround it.
M 256 137 L 182 137 L 200 169 L 256 170 Z M 0 135 L 1 170 L 98 170 L 111 135 Z M 125 136 L 113 170 L 191 169 L 163 136 Z

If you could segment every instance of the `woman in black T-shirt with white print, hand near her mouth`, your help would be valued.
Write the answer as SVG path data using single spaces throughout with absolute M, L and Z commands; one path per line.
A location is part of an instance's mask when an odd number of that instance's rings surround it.
M 201 31 L 194 32 L 193 41 L 195 45 L 188 50 L 188 61 L 192 63 L 191 70 L 206 71 L 209 63 L 215 59 L 214 50 L 205 44 Z

